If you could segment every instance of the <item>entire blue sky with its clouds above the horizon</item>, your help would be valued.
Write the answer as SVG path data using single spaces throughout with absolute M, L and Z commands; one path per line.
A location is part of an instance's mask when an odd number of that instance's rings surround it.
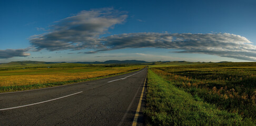
M 256 61 L 256 1 L 0 1 L 0 62 Z

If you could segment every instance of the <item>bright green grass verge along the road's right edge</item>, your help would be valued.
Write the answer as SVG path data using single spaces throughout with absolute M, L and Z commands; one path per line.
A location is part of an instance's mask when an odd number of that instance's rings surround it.
M 219 110 L 198 96 L 175 87 L 149 70 L 147 76 L 147 125 L 253 125 L 238 113 Z

